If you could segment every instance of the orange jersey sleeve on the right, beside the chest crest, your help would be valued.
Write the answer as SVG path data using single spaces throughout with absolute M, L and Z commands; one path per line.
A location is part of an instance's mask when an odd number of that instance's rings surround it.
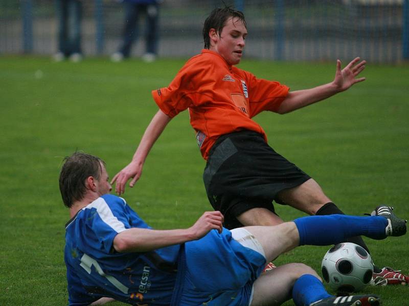
M 246 77 L 249 86 L 250 117 L 262 111 L 277 111 L 287 96 L 289 88 L 276 81 L 258 79 L 249 72 L 246 72 Z

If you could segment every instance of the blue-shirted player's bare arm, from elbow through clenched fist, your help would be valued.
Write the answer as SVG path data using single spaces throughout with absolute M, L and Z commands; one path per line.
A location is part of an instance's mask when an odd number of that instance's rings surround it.
M 223 215 L 218 211 L 205 212 L 191 227 L 183 230 L 157 231 L 148 228 L 128 228 L 113 239 L 117 252 L 145 252 L 197 240 L 211 230 L 221 233 Z

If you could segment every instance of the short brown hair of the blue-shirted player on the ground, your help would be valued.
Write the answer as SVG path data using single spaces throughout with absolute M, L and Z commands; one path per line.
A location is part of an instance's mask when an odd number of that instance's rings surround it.
M 105 162 L 99 157 L 82 152 L 75 152 L 64 158 L 61 168 L 59 185 L 62 201 L 66 207 L 71 207 L 74 201 L 80 201 L 86 191 L 85 180 L 89 176 L 99 179 Z

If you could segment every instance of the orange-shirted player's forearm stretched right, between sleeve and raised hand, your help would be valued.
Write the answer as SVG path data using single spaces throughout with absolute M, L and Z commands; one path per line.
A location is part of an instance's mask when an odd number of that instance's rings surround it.
M 296 90 L 288 93 L 277 112 L 286 114 L 314 104 L 340 92 L 334 83 L 328 83 L 310 89 Z

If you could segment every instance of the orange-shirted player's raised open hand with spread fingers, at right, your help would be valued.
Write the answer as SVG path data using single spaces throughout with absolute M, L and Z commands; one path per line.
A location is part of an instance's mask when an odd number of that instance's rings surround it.
M 359 73 L 365 69 L 365 60 L 360 61 L 360 58 L 352 60 L 344 69 L 341 70 L 341 61 L 336 61 L 336 72 L 333 84 L 338 91 L 344 91 L 358 82 L 365 81 L 365 78 L 357 78 Z

